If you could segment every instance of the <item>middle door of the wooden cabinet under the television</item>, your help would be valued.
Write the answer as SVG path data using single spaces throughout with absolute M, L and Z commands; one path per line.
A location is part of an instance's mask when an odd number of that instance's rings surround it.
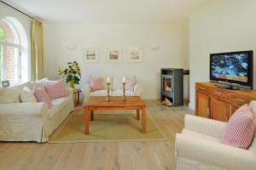
M 219 99 L 211 98 L 211 118 L 227 122 L 230 116 L 230 105 Z

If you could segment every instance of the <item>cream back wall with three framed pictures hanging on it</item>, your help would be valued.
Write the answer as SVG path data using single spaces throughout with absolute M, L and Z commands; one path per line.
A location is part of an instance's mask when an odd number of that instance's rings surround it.
M 68 61 L 81 65 L 81 86 L 90 75 L 136 75 L 143 84 L 143 98 L 160 96 L 160 68 L 189 67 L 188 26 L 174 25 L 99 25 L 44 24 L 44 75 L 58 78 L 55 69 L 65 67 Z M 76 44 L 67 50 L 67 44 Z M 160 46 L 158 50 L 151 47 Z M 143 48 L 143 63 L 129 63 L 128 48 Z M 100 62 L 84 64 L 83 48 L 100 48 Z M 123 60 L 109 63 L 106 48 L 122 48 Z M 188 92 L 186 92 L 188 93 Z

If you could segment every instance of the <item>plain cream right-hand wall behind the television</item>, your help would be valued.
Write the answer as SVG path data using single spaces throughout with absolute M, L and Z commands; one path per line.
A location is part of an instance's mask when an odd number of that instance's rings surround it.
M 209 54 L 253 49 L 255 55 L 255 8 L 255 0 L 214 0 L 190 16 L 191 109 L 195 109 L 195 82 L 209 81 Z

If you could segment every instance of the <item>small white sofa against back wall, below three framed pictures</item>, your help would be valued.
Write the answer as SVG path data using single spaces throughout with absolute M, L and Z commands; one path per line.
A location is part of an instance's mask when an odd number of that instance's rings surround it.
M 107 76 L 101 76 L 103 81 L 104 89 L 92 91 L 90 88 L 90 84 L 85 84 L 83 88 L 81 88 L 82 93 L 84 94 L 84 102 L 90 98 L 90 96 L 107 96 Z M 122 87 L 122 80 L 124 76 L 112 76 L 110 77 L 110 86 L 109 86 L 109 95 L 110 96 L 122 96 L 123 95 L 123 87 Z M 134 77 L 135 76 L 128 76 Z M 133 91 L 125 90 L 126 96 L 140 96 L 143 92 L 143 86 L 140 84 L 136 84 L 134 86 Z

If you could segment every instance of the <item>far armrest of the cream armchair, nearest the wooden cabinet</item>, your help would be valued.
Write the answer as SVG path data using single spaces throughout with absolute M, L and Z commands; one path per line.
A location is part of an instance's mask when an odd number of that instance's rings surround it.
M 226 122 L 220 122 L 200 116 L 186 115 L 184 128 L 220 139 L 224 133 L 226 124 Z

